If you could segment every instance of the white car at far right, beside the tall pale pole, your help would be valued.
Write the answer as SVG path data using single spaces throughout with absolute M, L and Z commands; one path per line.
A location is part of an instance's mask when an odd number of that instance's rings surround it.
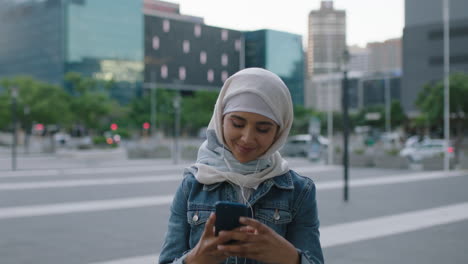
M 437 155 L 442 156 L 445 151 L 445 140 L 424 139 L 421 142 L 414 142 L 400 151 L 400 156 L 408 158 L 412 162 L 418 162 L 426 158 Z M 450 158 L 453 157 L 453 151 Z

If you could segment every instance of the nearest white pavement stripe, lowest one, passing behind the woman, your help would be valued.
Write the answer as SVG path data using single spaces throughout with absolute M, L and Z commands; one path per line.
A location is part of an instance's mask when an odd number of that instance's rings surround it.
M 322 248 L 326 249 L 467 219 L 468 203 L 459 203 L 427 210 L 325 226 L 320 229 L 320 240 Z M 158 257 L 159 254 L 154 254 L 91 264 L 150 264 L 157 263 Z

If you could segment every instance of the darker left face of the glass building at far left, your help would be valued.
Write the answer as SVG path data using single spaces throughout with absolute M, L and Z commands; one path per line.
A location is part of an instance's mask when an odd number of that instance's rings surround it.
M 30 75 L 60 83 L 64 17 L 60 1 L 4 0 L 0 8 L 0 78 Z

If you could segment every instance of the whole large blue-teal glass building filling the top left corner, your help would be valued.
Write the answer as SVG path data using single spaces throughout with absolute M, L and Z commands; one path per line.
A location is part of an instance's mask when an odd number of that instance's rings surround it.
M 29 75 L 62 84 L 70 71 L 114 80 L 113 96 L 131 97 L 143 81 L 141 1 L 4 0 L 0 78 Z

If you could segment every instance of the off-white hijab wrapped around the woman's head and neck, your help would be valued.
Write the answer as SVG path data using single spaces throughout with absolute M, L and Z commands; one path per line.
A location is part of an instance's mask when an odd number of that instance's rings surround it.
M 270 148 L 247 163 L 240 163 L 226 149 L 223 135 L 225 102 L 241 93 L 258 95 L 282 124 Z M 202 184 L 229 181 L 240 187 L 257 188 L 263 181 L 289 171 L 278 150 L 287 140 L 293 118 L 291 94 L 276 74 L 260 68 L 241 70 L 224 83 L 208 125 L 207 140 L 198 151 L 196 163 L 187 169 Z

